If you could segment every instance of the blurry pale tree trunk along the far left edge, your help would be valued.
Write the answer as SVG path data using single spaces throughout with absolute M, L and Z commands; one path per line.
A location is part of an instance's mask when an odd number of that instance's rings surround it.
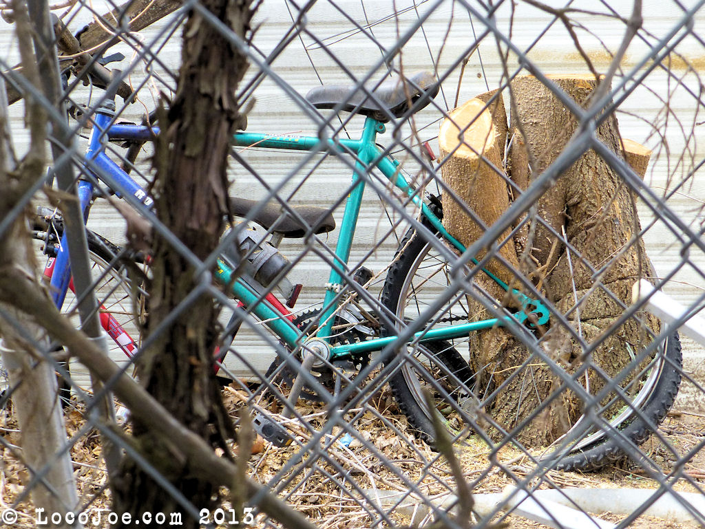
M 18 30 L 24 33 L 19 36 L 20 50 L 28 66 L 29 80 L 38 87 L 39 75 L 36 58 L 32 54 L 29 17 L 25 7 L 18 4 L 15 4 L 16 9 L 21 11 L 18 13 Z M 0 218 L 11 214 L 32 184 L 42 178 L 46 154 L 47 115 L 41 105 L 30 100 L 27 103 L 27 123 L 32 131 L 30 152 L 18 166 L 13 167 L 7 107 L 5 82 L 0 77 L 0 189 L 3 190 L 0 194 Z M 32 278 L 39 284 L 37 261 L 24 213 L 20 213 L 0 237 L 0 275 L 8 275 L 8 270 Z M 0 287 L 0 297 L 6 293 L 3 290 Z M 50 302 L 49 299 L 47 301 Z M 15 322 L 23 322 L 20 332 L 12 321 L 0 318 L 1 359 L 13 388 L 13 410 L 20 425 L 23 459 L 32 471 L 43 471 L 50 466 L 42 482 L 31 491 L 32 503 L 48 513 L 63 515 L 78 506 L 78 494 L 71 456 L 68 453 L 56 456 L 67 442 L 67 437 L 56 373 L 42 358 L 42 353 L 48 354 L 46 333 L 36 322 L 27 321 L 12 303 L 2 301 L 0 307 L 4 313 L 13 316 Z M 37 350 L 37 345 L 44 347 L 44 350 Z M 57 527 L 68 525 L 61 523 Z

